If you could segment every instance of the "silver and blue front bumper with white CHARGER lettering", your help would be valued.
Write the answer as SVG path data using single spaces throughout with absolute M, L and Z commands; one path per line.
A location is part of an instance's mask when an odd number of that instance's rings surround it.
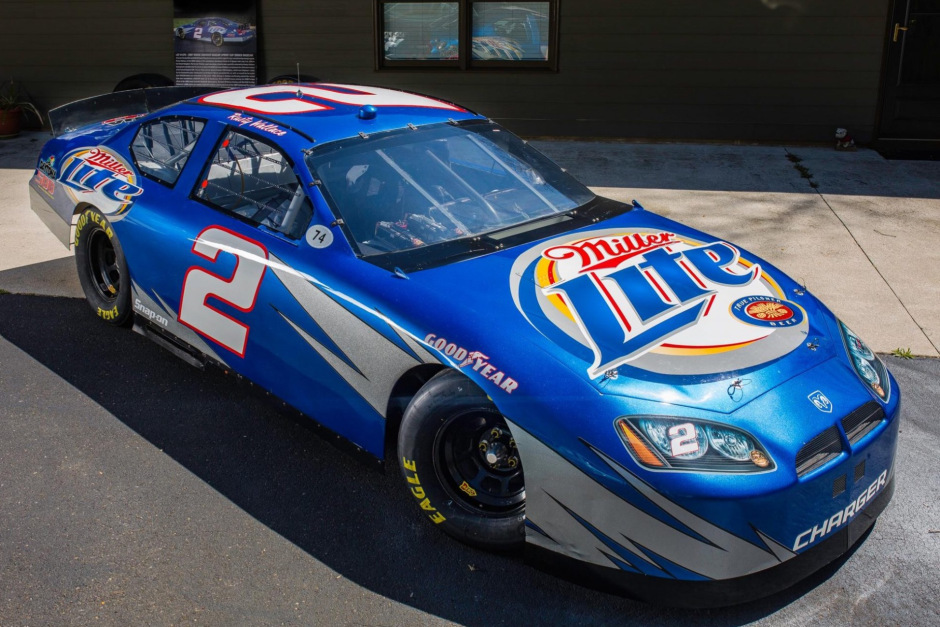
M 831 463 L 750 492 L 732 476 L 710 477 L 717 487 L 704 492 L 672 490 L 661 480 L 672 478 L 666 473 L 641 477 L 583 440 L 585 454 L 572 463 L 510 424 L 531 486 L 528 560 L 665 605 L 773 594 L 845 553 L 884 510 L 894 489 L 899 403 L 892 410 Z

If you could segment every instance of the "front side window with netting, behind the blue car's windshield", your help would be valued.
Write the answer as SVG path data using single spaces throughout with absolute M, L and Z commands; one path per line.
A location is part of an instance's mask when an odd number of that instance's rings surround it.
M 291 239 L 303 235 L 313 213 L 287 157 L 233 130 L 223 136 L 194 196 Z

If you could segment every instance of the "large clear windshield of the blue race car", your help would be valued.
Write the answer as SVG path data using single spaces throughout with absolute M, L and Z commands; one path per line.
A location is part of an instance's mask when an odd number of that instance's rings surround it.
M 355 138 L 312 153 L 307 164 L 366 256 L 489 233 L 594 198 L 544 155 L 489 123 Z

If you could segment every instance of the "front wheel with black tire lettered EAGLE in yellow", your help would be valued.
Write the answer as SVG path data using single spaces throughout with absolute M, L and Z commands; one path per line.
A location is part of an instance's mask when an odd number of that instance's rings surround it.
M 408 404 L 398 464 L 418 506 L 448 535 L 490 551 L 524 544 L 515 441 L 486 393 L 461 373 L 438 373 Z

